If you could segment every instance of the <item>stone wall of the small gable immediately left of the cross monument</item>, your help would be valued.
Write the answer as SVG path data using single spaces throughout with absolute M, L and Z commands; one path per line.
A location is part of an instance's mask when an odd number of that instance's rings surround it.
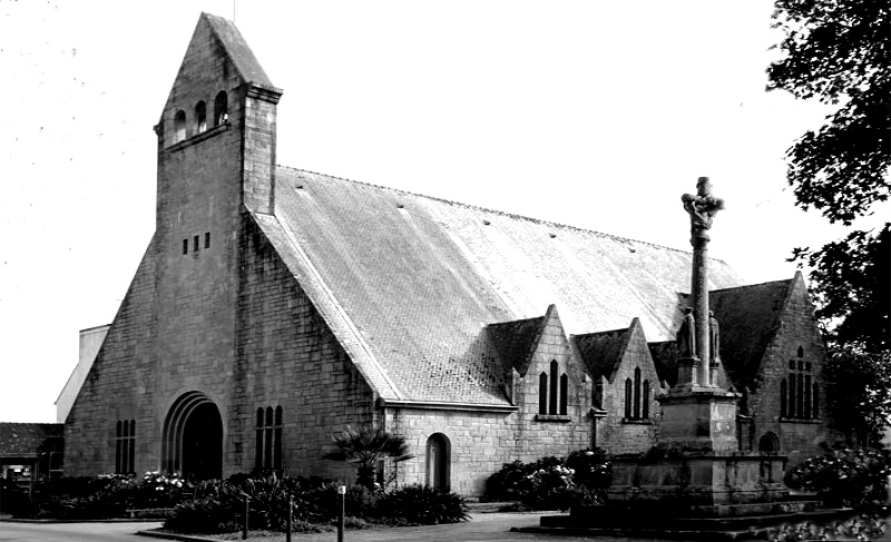
M 649 381 L 648 420 L 625 420 L 625 381 L 630 378 L 634 383 L 635 367 L 640 367 L 642 388 L 643 382 Z M 597 446 L 609 453 L 623 454 L 645 452 L 655 445 L 662 412 L 655 397 L 660 391 L 656 366 L 643 332 L 637 328 L 631 334 L 613 381 L 604 377 L 603 407 L 607 415 L 597 423 Z

